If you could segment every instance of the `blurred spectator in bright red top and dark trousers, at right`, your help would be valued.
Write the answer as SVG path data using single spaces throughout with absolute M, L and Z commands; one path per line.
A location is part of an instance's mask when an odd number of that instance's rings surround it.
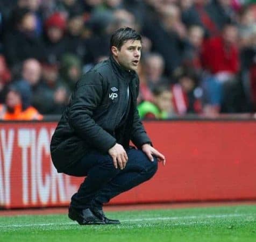
M 222 35 L 209 39 L 203 47 L 204 67 L 222 84 L 222 112 L 239 112 L 243 102 L 243 90 L 238 79 L 240 56 L 237 42 L 237 26 L 226 24 Z

